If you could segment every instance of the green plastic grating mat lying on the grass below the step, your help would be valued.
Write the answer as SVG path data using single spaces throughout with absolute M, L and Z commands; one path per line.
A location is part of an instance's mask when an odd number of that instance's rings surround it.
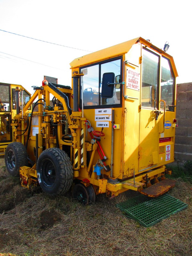
M 157 198 L 139 195 L 116 204 L 116 207 L 148 228 L 170 215 L 182 211 L 188 205 L 175 197 L 164 194 Z

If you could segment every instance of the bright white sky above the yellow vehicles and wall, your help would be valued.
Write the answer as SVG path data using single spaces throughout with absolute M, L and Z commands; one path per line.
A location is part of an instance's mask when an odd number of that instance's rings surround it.
M 33 93 L 46 75 L 71 86 L 72 60 L 139 36 L 159 48 L 168 41 L 177 83 L 192 82 L 190 6 L 189 0 L 0 0 L 0 29 L 68 46 L 0 31 L 0 82 Z

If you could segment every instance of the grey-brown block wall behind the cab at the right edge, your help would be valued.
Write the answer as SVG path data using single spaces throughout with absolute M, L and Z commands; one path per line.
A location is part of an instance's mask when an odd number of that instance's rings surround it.
M 192 161 L 192 83 L 177 84 L 175 159 Z

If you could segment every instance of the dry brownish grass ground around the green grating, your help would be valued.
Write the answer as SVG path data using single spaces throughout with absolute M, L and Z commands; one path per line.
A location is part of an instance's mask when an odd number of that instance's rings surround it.
M 0 214 L 0 256 L 192 255 L 190 183 L 178 179 L 169 192 L 187 203 L 187 209 L 144 228 L 115 207 L 135 196 L 135 192 L 128 191 L 112 200 L 100 195 L 96 204 L 84 207 L 72 201 L 70 193 L 55 199 L 44 193 L 32 195 L 18 182 L 6 190 L 5 184 L 15 181 L 3 169 L 0 195 L 6 200 L 12 198 L 13 204 Z M 2 200 L 0 197 L 0 204 Z

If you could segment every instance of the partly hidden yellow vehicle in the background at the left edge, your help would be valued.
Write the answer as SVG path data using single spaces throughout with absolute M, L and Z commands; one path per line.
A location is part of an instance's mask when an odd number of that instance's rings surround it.
M 11 126 L 12 118 L 22 110 L 31 94 L 18 84 L 0 83 L 0 156 L 3 156 L 8 144 L 15 141 Z M 18 108 L 16 109 L 16 98 Z

